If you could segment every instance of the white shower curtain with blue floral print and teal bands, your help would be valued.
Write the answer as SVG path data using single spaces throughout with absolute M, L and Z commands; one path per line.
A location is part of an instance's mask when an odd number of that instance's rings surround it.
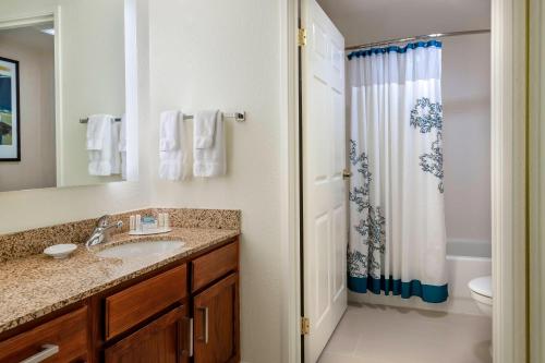
M 348 287 L 444 302 L 441 44 L 373 48 L 348 58 Z

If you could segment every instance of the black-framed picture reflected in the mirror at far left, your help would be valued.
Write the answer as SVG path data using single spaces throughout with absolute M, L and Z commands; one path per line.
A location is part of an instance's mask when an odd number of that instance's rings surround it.
M 19 61 L 0 57 L 0 161 L 21 161 Z

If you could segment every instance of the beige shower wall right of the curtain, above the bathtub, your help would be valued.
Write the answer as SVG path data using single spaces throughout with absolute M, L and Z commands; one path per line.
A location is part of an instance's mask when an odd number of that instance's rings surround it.
M 491 242 L 491 36 L 444 40 L 445 214 L 449 240 Z

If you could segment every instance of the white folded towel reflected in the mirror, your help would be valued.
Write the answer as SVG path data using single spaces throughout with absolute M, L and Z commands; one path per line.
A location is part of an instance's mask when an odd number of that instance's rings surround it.
M 118 133 L 113 132 L 112 123 L 113 117 L 109 114 L 94 114 L 88 119 L 87 150 L 90 176 L 105 177 L 112 173 L 112 161 L 116 161 L 114 154 L 119 155 L 117 138 L 112 140 L 112 134 L 118 135 Z

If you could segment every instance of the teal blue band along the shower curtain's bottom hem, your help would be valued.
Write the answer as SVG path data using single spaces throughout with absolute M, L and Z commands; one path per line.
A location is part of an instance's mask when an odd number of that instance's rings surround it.
M 384 276 L 380 279 L 371 276 L 366 278 L 349 276 L 348 288 L 359 293 L 366 293 L 368 290 L 374 294 L 380 294 L 384 291 L 386 295 L 389 295 L 391 292 L 393 295 L 401 295 L 402 299 L 419 297 L 428 303 L 441 303 L 448 299 L 448 285 L 424 285 L 419 280 L 404 282 L 401 279 L 395 280 L 392 277 L 386 279 Z

